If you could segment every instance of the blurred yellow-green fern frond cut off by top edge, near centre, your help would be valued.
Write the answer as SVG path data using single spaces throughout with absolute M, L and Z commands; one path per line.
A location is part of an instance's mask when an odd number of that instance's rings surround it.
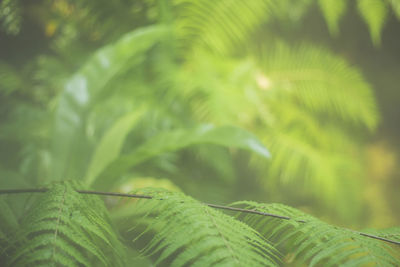
M 183 43 L 225 54 L 269 18 L 271 1 L 178 0 L 177 34 Z

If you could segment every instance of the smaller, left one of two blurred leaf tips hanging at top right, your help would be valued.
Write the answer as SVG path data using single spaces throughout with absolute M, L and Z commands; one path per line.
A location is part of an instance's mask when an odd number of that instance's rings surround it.
M 346 11 L 347 0 L 319 0 L 329 31 L 336 36 L 339 33 L 339 20 Z

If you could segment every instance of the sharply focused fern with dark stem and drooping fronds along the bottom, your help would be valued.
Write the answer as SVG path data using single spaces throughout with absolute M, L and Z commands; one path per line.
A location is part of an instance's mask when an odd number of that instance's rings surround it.
M 372 235 L 331 226 L 284 205 L 233 204 L 248 208 L 241 209 L 151 188 L 114 194 L 143 199 L 114 205 L 111 216 L 119 235 L 101 200 L 91 196 L 108 193 L 81 186 L 57 182 L 38 190 L 2 191 L 43 194 L 21 225 L 2 200 L 0 259 L 6 266 L 134 265 L 138 259 L 128 255 L 138 249 L 156 265 L 171 266 L 279 266 L 294 260 L 311 266 L 394 266 L 400 261 L 398 247 L 383 243 L 399 246 L 398 228 Z M 235 219 L 213 208 L 246 215 Z

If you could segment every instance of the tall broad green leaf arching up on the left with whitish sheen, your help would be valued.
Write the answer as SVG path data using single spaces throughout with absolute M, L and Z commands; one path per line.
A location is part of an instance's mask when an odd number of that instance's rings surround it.
M 55 114 L 52 179 L 83 174 L 90 153 L 85 121 L 91 105 L 100 93 L 113 90 L 112 80 L 127 68 L 138 65 L 143 53 L 165 32 L 165 27 L 153 26 L 126 34 L 115 44 L 96 52 L 66 83 Z

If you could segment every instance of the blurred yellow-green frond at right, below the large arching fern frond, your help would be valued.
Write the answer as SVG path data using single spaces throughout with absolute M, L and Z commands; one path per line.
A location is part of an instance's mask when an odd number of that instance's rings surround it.
M 266 169 L 269 174 L 264 181 L 266 186 L 296 184 L 340 217 L 355 215 L 360 207 L 356 193 L 361 186 L 358 177 L 363 173 L 361 161 L 354 161 L 353 156 L 357 154 L 351 152 L 357 148 L 334 127 L 321 129 L 315 122 L 307 124 L 300 117 L 293 117 L 296 123 L 304 125 L 297 129 L 270 129 L 264 138 L 273 155 Z M 303 130 L 308 125 L 316 128 L 315 132 Z M 328 141 L 321 144 L 324 140 Z M 338 196 L 341 197 L 338 199 Z

